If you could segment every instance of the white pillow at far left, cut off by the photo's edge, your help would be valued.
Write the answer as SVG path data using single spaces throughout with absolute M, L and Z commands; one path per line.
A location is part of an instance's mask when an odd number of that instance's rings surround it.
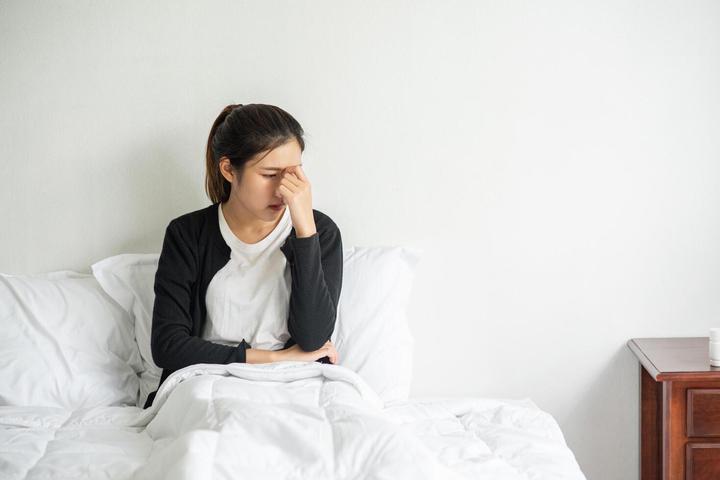
M 137 404 L 132 320 L 94 276 L 0 273 L 0 330 L 1 406 Z

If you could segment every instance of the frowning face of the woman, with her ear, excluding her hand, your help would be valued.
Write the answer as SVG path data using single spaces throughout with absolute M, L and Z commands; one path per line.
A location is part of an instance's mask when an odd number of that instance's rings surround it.
M 259 154 L 260 160 L 251 160 L 246 163 L 239 185 L 237 176 L 230 171 L 230 160 L 223 158 L 220 162 L 222 175 L 225 178 L 228 176 L 232 178 L 232 180 L 228 178 L 228 181 L 232 183 L 230 196 L 238 200 L 245 210 L 266 222 L 278 219 L 285 212 L 287 206 L 276 212 L 270 208 L 270 205 L 287 205 L 287 200 L 277 193 L 277 189 L 285 168 L 302 165 L 300 163 L 301 153 L 300 143 L 292 140 L 271 150 L 267 155 Z M 263 157 L 263 155 L 265 156 Z

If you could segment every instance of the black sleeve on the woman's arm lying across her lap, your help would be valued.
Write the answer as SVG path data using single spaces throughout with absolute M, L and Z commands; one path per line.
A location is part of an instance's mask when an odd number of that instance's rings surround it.
M 232 347 L 190 335 L 190 297 L 199 268 L 197 249 L 189 248 L 191 242 L 184 239 L 175 221 L 170 222 L 155 276 L 150 332 L 153 361 L 173 371 L 197 363 L 245 363 L 245 350 L 250 345 L 244 338 L 240 345 Z

